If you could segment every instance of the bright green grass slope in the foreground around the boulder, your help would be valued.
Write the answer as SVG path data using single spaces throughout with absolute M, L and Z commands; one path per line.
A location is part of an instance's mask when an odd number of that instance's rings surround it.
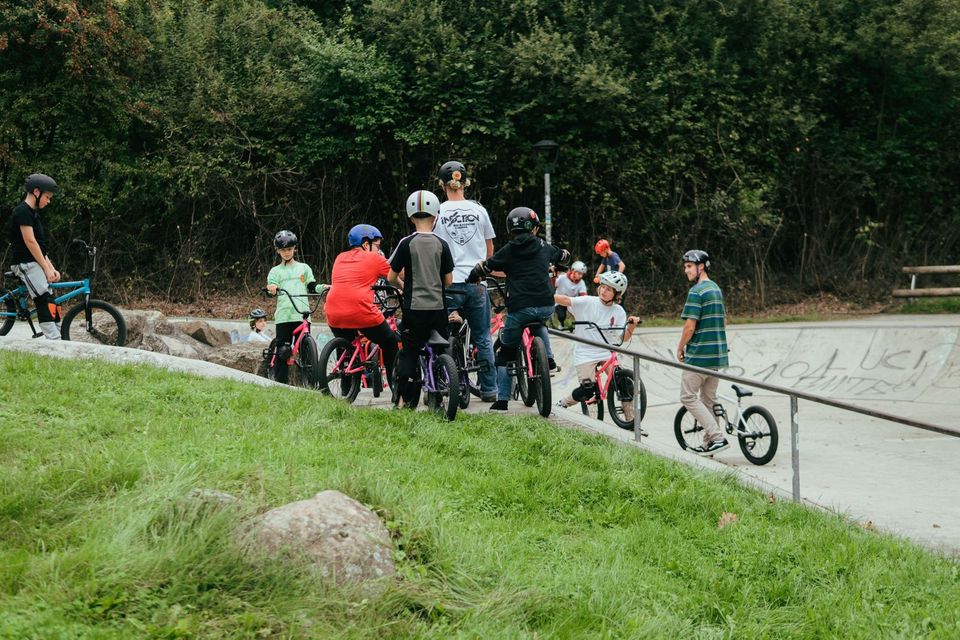
M 953 561 L 538 419 L 2 352 L 0 371 L 3 638 L 960 635 Z M 195 487 L 244 506 L 190 506 Z M 325 489 L 394 534 L 382 597 L 235 543 Z

